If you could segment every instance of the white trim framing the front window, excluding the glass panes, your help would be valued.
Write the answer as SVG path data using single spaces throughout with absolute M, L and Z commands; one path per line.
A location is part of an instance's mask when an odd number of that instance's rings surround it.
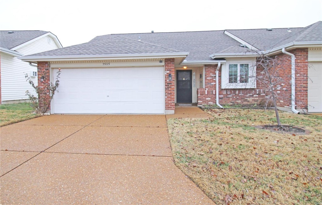
M 249 64 L 249 81 L 247 83 L 229 83 L 229 64 Z M 240 65 L 238 65 L 239 74 Z M 222 89 L 247 89 L 256 88 L 256 61 L 255 60 L 233 60 L 222 66 L 221 88 Z M 239 76 L 238 76 L 239 80 Z

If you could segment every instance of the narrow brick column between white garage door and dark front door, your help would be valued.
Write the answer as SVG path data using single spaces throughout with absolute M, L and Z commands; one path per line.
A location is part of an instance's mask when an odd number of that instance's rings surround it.
M 175 114 L 175 59 L 165 59 L 166 114 Z M 169 81 L 169 74 L 172 81 Z

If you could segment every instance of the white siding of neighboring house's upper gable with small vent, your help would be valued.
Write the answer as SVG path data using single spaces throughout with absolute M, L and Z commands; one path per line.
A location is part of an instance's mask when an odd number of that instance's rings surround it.
M 48 38 L 50 39 L 50 43 L 48 43 Z M 40 53 L 48 50 L 53 50 L 58 48 L 54 39 L 50 36 L 45 36 L 36 41 L 31 42 L 21 48 L 18 48 L 16 51 L 22 53 L 24 55 L 30 55 L 34 53 Z

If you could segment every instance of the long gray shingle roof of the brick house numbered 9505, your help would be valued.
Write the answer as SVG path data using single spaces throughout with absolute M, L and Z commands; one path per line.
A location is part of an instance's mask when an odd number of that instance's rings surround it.
M 305 28 L 227 30 L 262 51 L 294 41 L 321 41 L 322 21 Z M 138 39 L 141 41 L 138 41 Z M 46 51 L 30 56 L 122 55 L 189 52 L 187 61 L 208 61 L 219 53 L 245 53 L 249 48 L 219 31 L 169 33 L 109 34 L 97 36 L 88 43 Z

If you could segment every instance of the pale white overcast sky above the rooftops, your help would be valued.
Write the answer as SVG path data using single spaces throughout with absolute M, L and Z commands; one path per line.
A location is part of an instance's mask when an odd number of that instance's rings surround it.
M 322 21 L 322 1 L 1 0 L 0 19 L 0 30 L 50 31 L 67 47 L 115 33 L 305 27 Z

